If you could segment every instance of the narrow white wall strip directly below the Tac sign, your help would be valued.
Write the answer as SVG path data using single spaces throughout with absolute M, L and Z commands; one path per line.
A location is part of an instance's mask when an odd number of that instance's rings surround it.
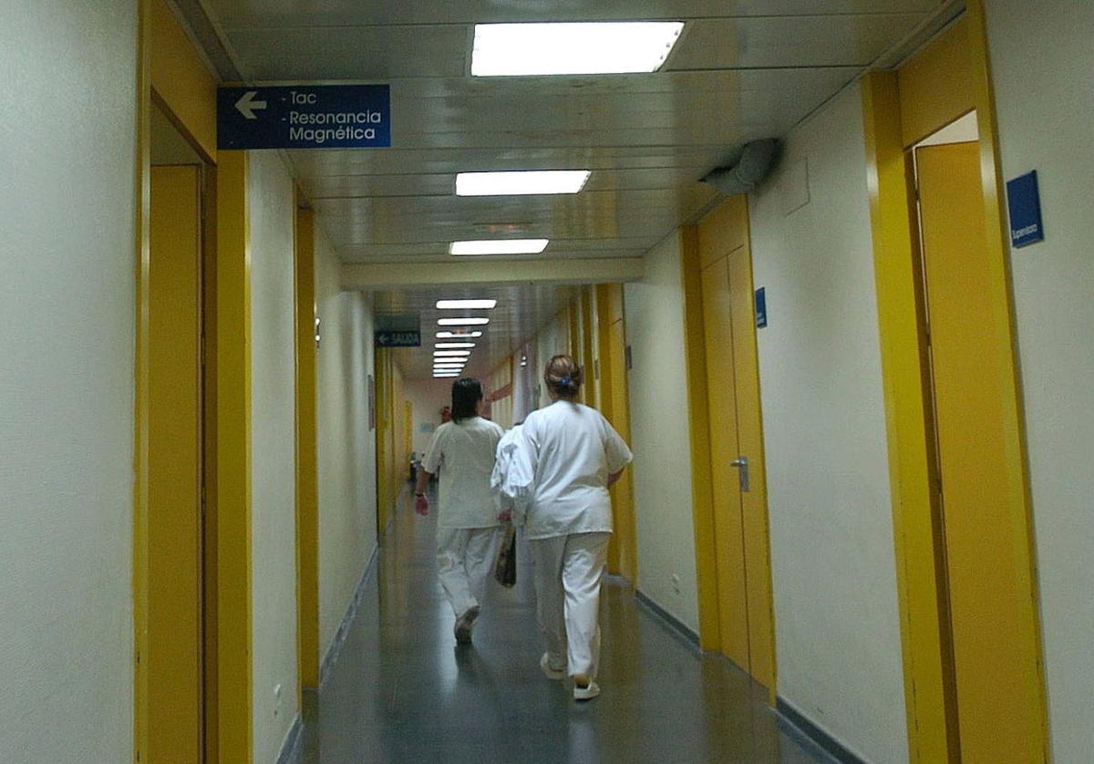
M 293 188 L 251 153 L 252 658 L 256 762 L 277 760 L 296 706 Z M 280 685 L 280 701 L 275 687 Z

